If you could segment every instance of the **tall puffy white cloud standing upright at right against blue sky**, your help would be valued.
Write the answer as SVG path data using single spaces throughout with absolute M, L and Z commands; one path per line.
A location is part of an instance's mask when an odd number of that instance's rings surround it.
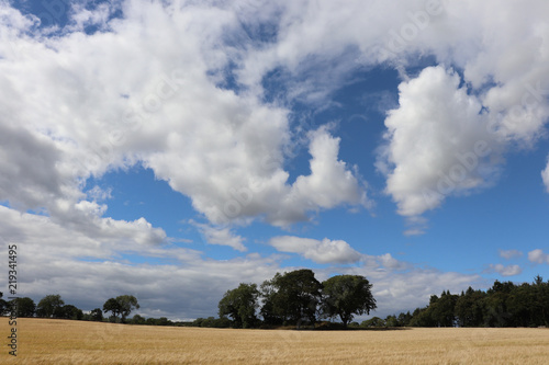
M 481 104 L 459 82 L 451 70 L 429 67 L 399 85 L 400 107 L 385 119 L 388 145 L 378 167 L 404 216 L 485 186 L 497 172 L 494 137 Z

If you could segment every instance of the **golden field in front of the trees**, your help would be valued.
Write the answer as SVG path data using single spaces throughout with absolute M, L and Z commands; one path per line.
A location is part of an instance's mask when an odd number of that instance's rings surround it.
M 549 329 L 231 330 L 19 319 L 1 364 L 549 364 Z

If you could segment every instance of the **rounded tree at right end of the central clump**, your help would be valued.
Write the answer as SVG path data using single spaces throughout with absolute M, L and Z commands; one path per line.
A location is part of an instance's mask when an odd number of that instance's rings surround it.
M 337 275 L 322 283 L 323 312 L 327 317 L 339 316 L 344 327 L 354 315 L 370 313 L 377 308 L 372 285 L 360 275 Z

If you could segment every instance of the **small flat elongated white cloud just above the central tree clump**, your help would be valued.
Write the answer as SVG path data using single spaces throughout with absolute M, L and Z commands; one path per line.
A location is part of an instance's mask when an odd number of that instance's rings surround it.
M 352 263 L 361 259 L 349 243 L 343 240 L 315 240 L 294 236 L 279 236 L 270 239 L 269 244 L 281 252 L 299 253 L 317 263 Z

